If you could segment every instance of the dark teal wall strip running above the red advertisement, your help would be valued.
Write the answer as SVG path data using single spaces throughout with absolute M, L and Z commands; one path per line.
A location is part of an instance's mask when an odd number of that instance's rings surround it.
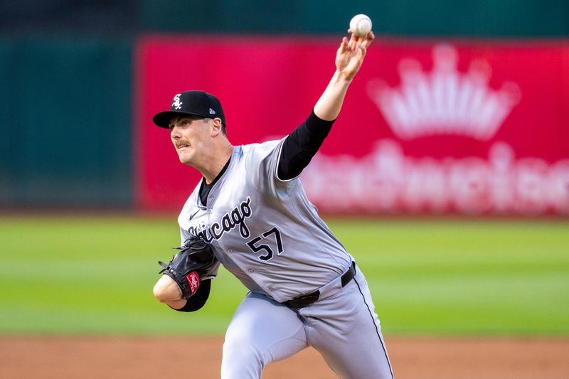
M 161 31 L 341 33 L 367 14 L 376 34 L 566 36 L 565 0 L 143 0 L 141 23 Z

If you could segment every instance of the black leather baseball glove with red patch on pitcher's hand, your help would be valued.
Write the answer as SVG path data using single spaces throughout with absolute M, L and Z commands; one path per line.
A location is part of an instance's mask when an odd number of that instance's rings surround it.
M 180 251 L 172 257 L 168 265 L 158 262 L 164 267 L 159 274 L 166 274 L 178 284 L 182 291 L 182 299 L 189 299 L 200 287 L 201 279 L 208 274 L 216 262 L 211 245 L 203 237 L 192 236 L 183 246 L 175 247 Z

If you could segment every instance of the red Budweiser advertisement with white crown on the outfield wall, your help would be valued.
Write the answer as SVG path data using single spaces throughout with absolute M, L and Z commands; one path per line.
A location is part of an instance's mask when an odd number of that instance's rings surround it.
M 152 116 L 219 97 L 248 144 L 301 124 L 340 38 L 146 36 L 137 44 L 137 202 L 177 210 L 201 179 Z M 569 215 L 569 41 L 377 38 L 301 175 L 325 213 Z

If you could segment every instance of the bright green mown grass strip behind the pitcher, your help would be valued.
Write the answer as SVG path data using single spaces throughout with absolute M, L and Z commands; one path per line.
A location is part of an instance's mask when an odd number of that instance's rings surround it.
M 388 335 L 569 335 L 569 220 L 328 220 Z M 176 217 L 0 217 L 0 333 L 223 333 L 224 269 L 193 314 L 154 300 Z

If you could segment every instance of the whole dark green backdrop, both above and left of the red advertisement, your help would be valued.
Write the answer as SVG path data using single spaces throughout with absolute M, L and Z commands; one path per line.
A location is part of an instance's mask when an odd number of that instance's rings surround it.
M 0 0 L 0 208 L 132 205 L 141 33 L 344 33 L 366 13 L 380 35 L 569 36 L 561 0 L 14 4 Z

